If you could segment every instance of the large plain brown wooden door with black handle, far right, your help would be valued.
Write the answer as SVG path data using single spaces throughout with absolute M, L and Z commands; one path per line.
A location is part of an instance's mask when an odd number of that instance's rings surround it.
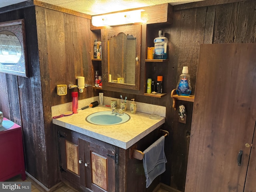
M 253 181 L 248 188 L 256 189 L 251 148 L 256 122 L 255 50 L 256 44 L 200 46 L 185 192 L 243 192 L 246 179 Z M 254 162 L 246 178 L 250 155 Z

